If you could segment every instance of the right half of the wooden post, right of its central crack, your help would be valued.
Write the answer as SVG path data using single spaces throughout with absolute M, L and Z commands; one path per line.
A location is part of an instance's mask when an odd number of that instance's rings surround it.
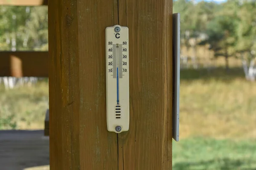
M 129 28 L 130 129 L 119 170 L 172 169 L 172 0 L 119 0 Z

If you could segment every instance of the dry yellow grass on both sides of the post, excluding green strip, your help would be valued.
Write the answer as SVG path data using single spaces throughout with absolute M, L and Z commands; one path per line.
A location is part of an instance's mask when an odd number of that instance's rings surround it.
M 256 84 L 243 77 L 240 68 L 181 71 L 180 138 L 256 138 Z M 47 82 L 0 94 L 1 129 L 44 128 Z

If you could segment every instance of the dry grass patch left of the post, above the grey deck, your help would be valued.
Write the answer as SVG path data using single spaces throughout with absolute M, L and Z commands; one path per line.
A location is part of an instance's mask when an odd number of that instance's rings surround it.
M 43 129 L 48 83 L 5 90 L 0 86 L 0 129 Z

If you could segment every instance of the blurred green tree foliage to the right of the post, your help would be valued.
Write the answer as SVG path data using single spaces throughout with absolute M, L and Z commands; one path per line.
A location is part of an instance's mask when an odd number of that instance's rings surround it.
M 182 45 L 189 48 L 189 40 L 196 38 L 199 45 L 209 45 L 215 57 L 225 57 L 227 68 L 229 57 L 246 52 L 250 60 L 255 58 L 255 0 L 227 0 L 221 4 L 175 0 L 173 8 L 181 16 Z M 201 38 L 202 34 L 207 38 Z

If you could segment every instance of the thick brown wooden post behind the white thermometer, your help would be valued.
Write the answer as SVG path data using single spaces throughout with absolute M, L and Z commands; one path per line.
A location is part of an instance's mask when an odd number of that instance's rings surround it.
M 172 170 L 172 0 L 50 0 L 51 170 Z M 129 28 L 130 129 L 106 124 L 105 28 Z

